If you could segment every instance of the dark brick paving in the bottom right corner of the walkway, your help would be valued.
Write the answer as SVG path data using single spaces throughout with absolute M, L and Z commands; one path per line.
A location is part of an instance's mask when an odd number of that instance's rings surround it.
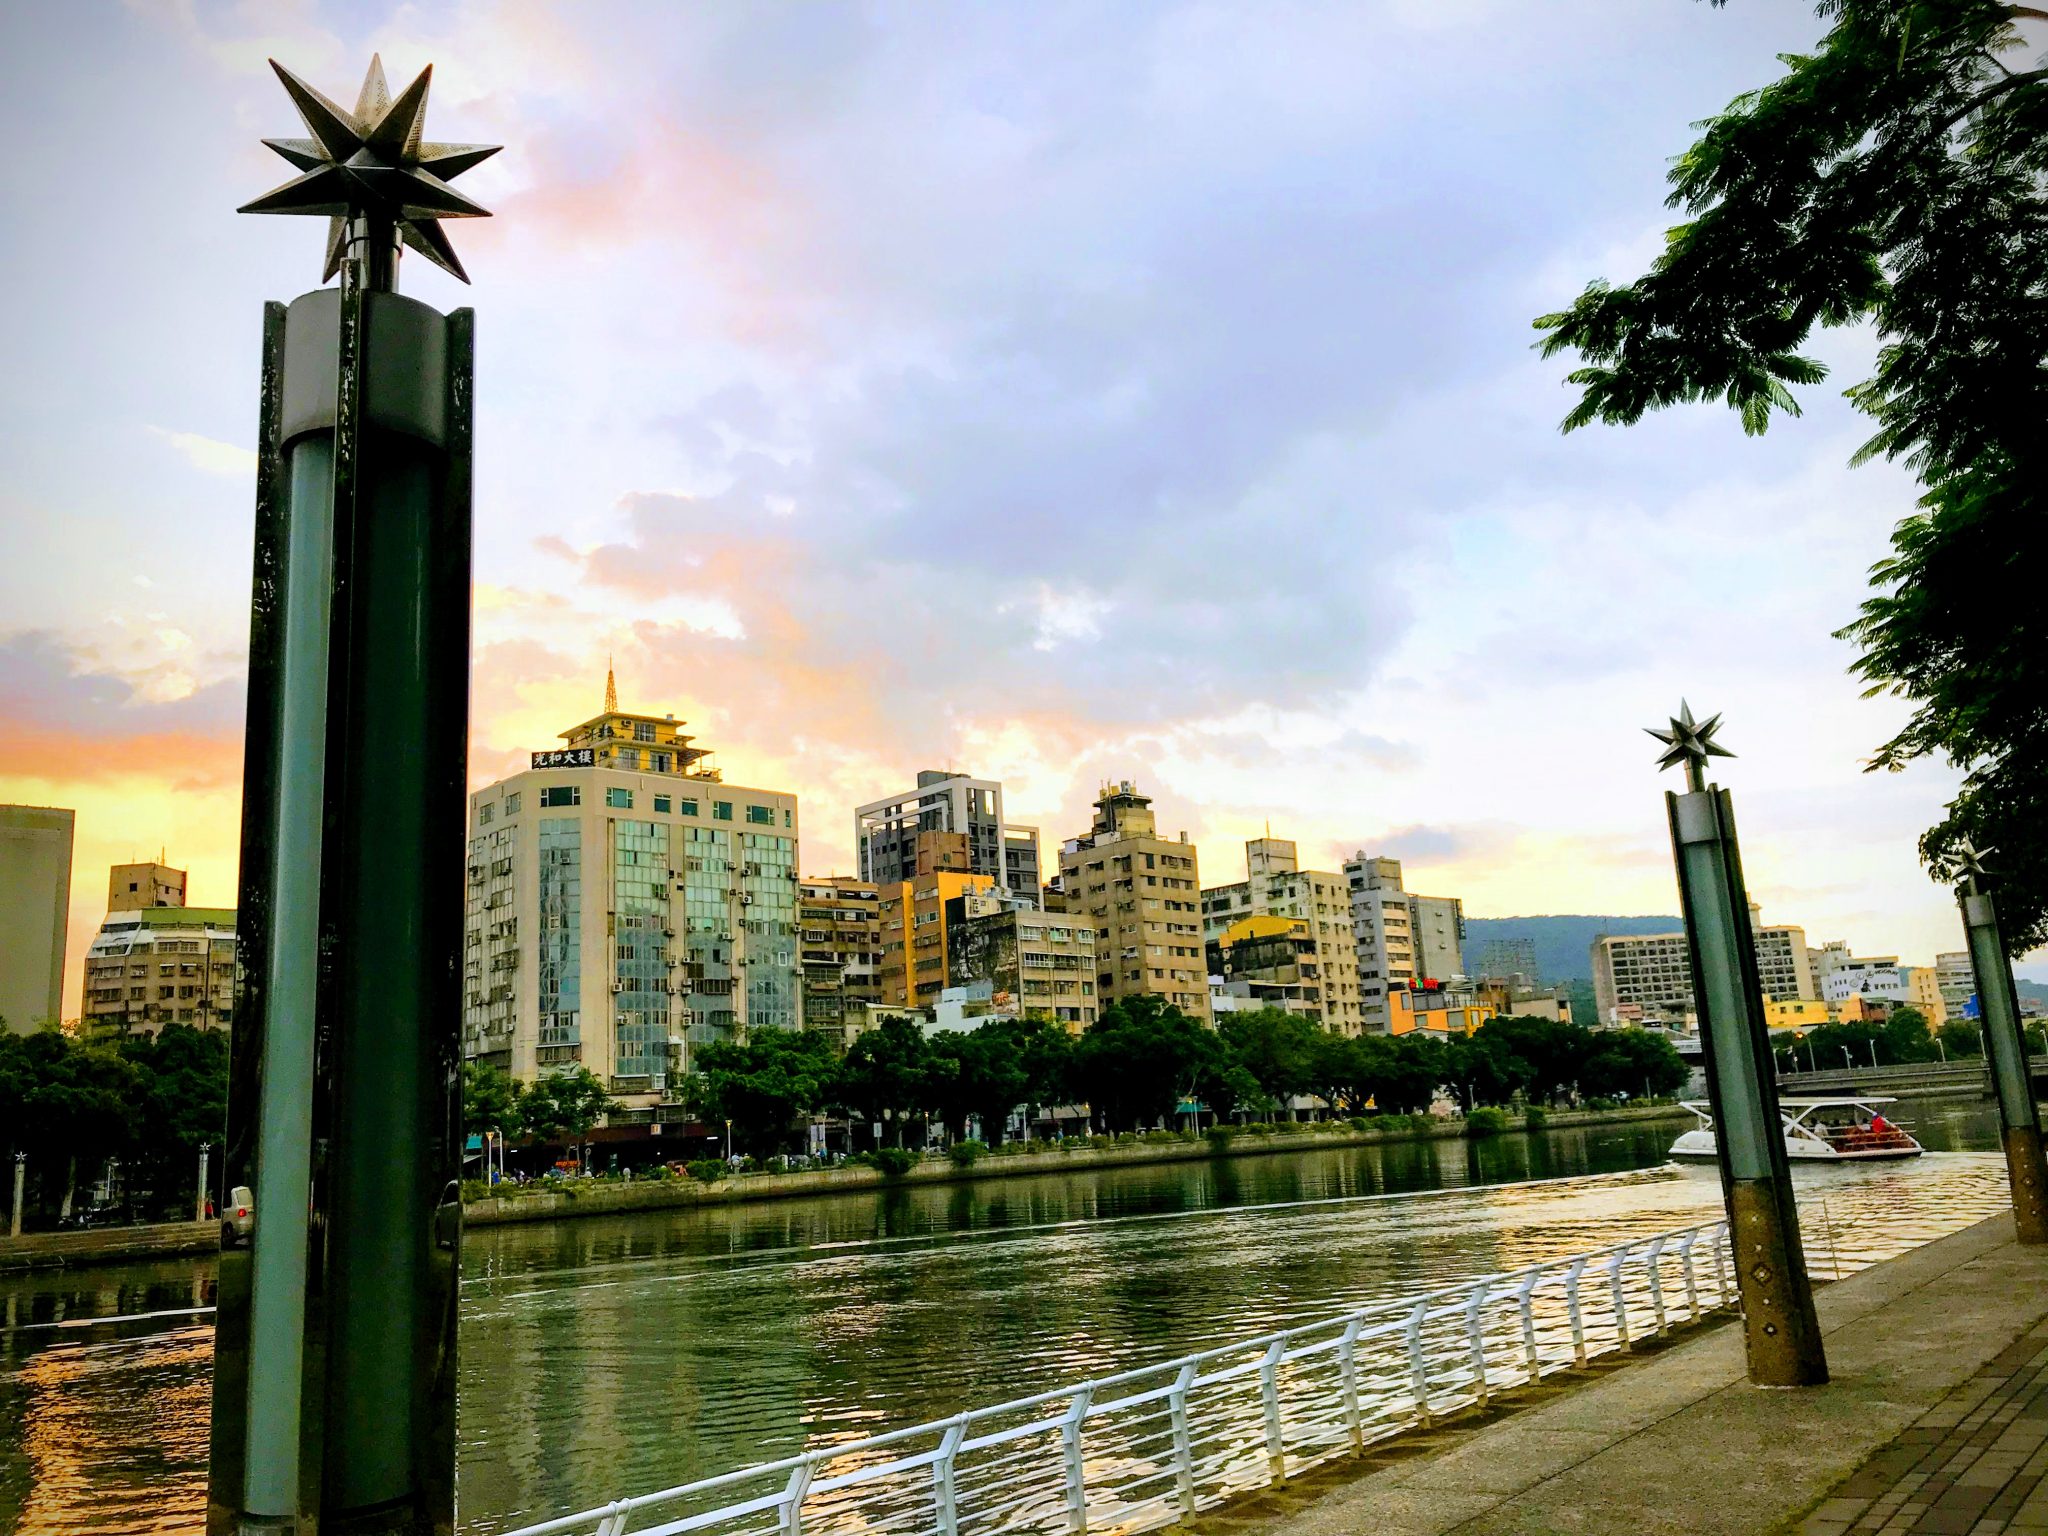
M 1915 1419 L 1798 1532 L 2048 1536 L 2048 1323 Z

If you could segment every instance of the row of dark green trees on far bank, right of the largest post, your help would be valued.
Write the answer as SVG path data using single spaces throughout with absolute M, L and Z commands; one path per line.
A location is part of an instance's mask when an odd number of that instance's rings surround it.
M 801 1147 L 811 1120 L 838 1114 L 881 1124 L 883 1139 L 903 1147 L 932 1130 L 965 1141 L 971 1122 L 1001 1143 L 1014 1120 L 1030 1135 L 1065 1106 L 1083 1106 L 1090 1130 L 1122 1133 L 1182 1128 L 1196 1116 L 1210 1126 L 1262 1120 L 1296 1098 L 1348 1116 L 1419 1114 L 1442 1090 L 1470 1112 L 1513 1100 L 1655 1098 L 1683 1081 L 1677 1051 L 1649 1030 L 1495 1018 L 1470 1036 L 1343 1036 L 1278 1008 L 1227 1014 L 1208 1028 L 1139 997 L 1110 1004 L 1079 1036 L 1038 1018 L 930 1036 L 887 1020 L 842 1055 L 823 1034 L 762 1030 L 698 1047 L 684 1096 L 696 1118 L 729 1120 L 739 1151 L 766 1157 Z M 524 1094 L 543 1090 L 473 1069 L 469 1128 L 526 1128 Z

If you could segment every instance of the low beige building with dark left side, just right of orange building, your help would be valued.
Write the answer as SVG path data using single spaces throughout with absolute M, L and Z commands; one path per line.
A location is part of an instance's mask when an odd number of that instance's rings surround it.
M 995 1014 L 1055 1018 L 1081 1034 L 1098 1018 L 1096 924 L 1008 891 L 963 891 L 946 903 L 946 975 L 952 987 L 985 985 Z

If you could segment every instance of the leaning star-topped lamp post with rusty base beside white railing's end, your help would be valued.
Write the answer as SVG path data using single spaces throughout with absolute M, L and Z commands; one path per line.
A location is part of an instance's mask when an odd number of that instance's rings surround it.
M 1729 791 L 1706 782 L 1708 758 L 1735 756 L 1714 741 L 1718 727 L 1720 715 L 1694 721 L 1692 709 L 1679 705 L 1669 729 L 1651 729 L 1651 735 L 1667 748 L 1659 768 L 1686 768 L 1686 793 L 1665 795 L 1665 809 L 1692 952 L 1692 995 L 1714 1112 L 1720 1192 L 1729 1206 L 1729 1245 L 1743 1298 L 1749 1380 L 1759 1386 L 1817 1386 L 1827 1380 L 1827 1352 L 1812 1311 L 1778 1114 L 1778 1071 L 1763 1016 L 1735 803 Z

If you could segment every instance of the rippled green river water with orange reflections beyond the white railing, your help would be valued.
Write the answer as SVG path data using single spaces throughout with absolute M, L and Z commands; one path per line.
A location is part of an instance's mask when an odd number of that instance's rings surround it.
M 1993 1112 L 1798 1169 L 1847 1274 L 2007 1204 Z M 526 1227 L 463 1253 L 461 1516 L 518 1524 L 1718 1214 L 1681 1126 L 1292 1151 Z M 0 1530 L 184 1532 L 213 1262 L 0 1280 Z M 115 1321 L 119 1319 L 119 1321 Z

